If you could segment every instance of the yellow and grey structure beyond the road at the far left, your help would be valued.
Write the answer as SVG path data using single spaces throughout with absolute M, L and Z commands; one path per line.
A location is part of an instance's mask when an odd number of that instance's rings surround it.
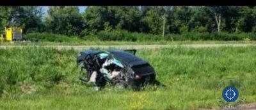
M 6 41 L 16 41 L 21 40 L 23 38 L 22 36 L 22 28 L 20 27 L 10 27 L 10 28 L 4 28 L 4 33 L 0 37 L 0 41 L 3 41 L 5 39 Z

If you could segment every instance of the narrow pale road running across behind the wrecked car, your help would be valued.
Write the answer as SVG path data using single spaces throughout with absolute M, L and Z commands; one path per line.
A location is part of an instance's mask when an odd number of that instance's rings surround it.
M 125 48 L 125 49 L 147 49 L 147 48 L 170 48 L 170 47 L 187 47 L 187 48 L 207 48 L 207 47 L 220 47 L 220 46 L 256 46 L 256 43 L 236 43 L 236 44 L 196 44 L 196 45 L 45 45 L 36 47 L 48 47 L 58 49 L 84 50 L 89 48 Z M 24 48 L 33 46 L 20 46 L 20 45 L 0 45 L 0 48 Z

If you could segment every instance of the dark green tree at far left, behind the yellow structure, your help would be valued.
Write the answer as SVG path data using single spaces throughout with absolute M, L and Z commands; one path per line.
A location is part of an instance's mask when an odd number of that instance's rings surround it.
M 0 7 L 1 27 L 22 27 L 24 31 L 42 31 L 42 8 L 39 6 Z

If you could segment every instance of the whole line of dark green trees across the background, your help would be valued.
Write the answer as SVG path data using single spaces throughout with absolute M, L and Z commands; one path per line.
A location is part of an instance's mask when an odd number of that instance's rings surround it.
M 125 30 L 147 34 L 183 32 L 256 32 L 255 6 L 1 6 L 0 27 L 24 32 L 86 36 Z M 163 33 L 164 31 L 164 33 Z

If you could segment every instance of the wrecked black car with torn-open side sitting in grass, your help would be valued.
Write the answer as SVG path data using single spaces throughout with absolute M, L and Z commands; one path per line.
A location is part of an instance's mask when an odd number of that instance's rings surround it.
M 135 53 L 136 50 L 84 50 L 77 56 L 79 79 L 94 83 L 96 90 L 103 88 L 106 81 L 114 87 L 135 89 L 154 83 L 154 68 Z

